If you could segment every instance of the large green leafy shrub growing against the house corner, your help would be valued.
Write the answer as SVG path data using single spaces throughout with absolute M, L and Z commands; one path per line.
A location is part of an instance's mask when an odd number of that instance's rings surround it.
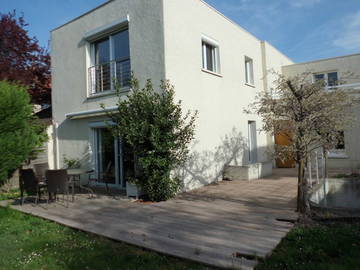
M 183 115 L 181 102 L 174 101 L 174 87 L 168 81 L 154 89 L 151 80 L 144 88 L 132 79 L 132 91 L 124 99 L 118 94 L 118 110 L 108 113 L 115 123 L 109 128 L 132 146 L 135 153 L 135 179 L 150 200 L 172 198 L 182 181 L 171 176 L 189 152 L 194 137 L 196 114 Z M 129 180 L 129 179 L 128 179 Z

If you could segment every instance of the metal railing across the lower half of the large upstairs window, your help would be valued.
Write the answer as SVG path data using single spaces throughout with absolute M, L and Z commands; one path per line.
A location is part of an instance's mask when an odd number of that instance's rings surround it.
M 130 86 L 130 59 L 111 61 L 89 68 L 89 95 Z

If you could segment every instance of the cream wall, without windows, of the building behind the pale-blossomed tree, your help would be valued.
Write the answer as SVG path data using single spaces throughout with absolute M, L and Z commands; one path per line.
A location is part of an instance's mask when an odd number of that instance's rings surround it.
M 338 79 L 342 84 L 356 84 L 359 86 L 354 95 L 359 95 L 360 91 L 360 54 L 323 59 L 318 61 L 299 63 L 283 67 L 283 74 L 295 76 L 303 72 L 327 73 L 337 71 Z M 349 76 L 349 72 L 353 75 Z M 348 88 L 349 90 L 351 88 Z M 360 106 L 355 104 L 352 108 L 356 121 L 352 127 L 345 130 L 345 152 L 334 155 L 330 153 L 328 167 L 336 169 L 359 169 L 360 167 Z

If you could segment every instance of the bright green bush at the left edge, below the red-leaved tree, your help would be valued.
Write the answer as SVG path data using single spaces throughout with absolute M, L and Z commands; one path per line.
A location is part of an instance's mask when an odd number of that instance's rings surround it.
M 46 141 L 22 86 L 0 81 L 0 186 Z

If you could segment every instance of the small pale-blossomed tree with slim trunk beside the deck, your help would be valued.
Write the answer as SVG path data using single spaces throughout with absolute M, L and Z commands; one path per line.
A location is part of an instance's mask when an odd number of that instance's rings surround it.
M 311 73 L 277 76 L 273 91 L 258 94 L 247 111 L 262 117 L 264 131 L 288 134 L 289 145 L 276 145 L 274 155 L 282 159 L 290 157 L 297 163 L 297 210 L 306 213 L 309 209 L 307 159 L 315 149 L 333 149 L 342 139 L 341 131 L 352 120 L 352 101 L 344 90 L 326 91 L 324 81 L 312 82 Z

